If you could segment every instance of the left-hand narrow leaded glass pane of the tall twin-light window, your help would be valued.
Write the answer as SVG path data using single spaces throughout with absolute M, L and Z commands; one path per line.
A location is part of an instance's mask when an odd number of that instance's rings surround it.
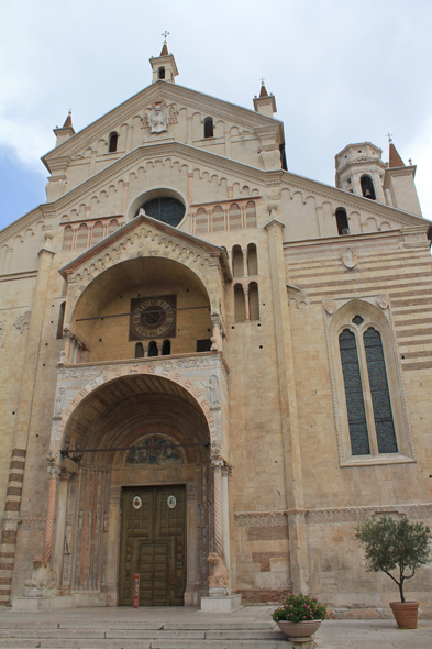
M 339 346 L 341 350 L 346 410 L 348 415 L 351 452 L 353 455 L 368 455 L 370 453 L 370 447 L 358 365 L 357 343 L 354 333 L 350 329 L 342 331 L 339 337 Z

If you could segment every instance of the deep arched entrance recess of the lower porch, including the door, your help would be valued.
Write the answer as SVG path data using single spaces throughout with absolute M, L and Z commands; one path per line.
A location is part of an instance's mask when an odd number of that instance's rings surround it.
M 62 592 L 132 605 L 137 572 L 141 605 L 198 604 L 208 590 L 213 481 L 196 399 L 162 376 L 121 376 L 80 402 L 64 440 L 79 469 L 58 503 Z

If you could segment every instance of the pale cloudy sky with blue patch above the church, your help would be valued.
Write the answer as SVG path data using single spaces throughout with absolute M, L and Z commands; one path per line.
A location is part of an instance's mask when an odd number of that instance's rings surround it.
M 13 0 L 1 10 L 0 229 L 45 200 L 40 157 L 151 82 L 162 32 L 177 82 L 253 109 L 259 78 L 288 168 L 334 184 L 334 155 L 386 133 L 432 219 L 431 0 Z

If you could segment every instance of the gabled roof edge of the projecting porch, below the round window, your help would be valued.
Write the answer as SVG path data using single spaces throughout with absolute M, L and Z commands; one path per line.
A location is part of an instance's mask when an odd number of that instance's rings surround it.
M 78 268 L 82 263 L 89 262 L 92 257 L 98 258 L 100 253 L 109 249 L 114 242 L 120 241 L 128 234 L 131 234 L 134 230 L 137 230 L 143 223 L 147 226 L 152 226 L 152 228 L 158 230 L 160 233 L 165 235 L 169 235 L 169 238 L 174 241 L 178 241 L 178 243 L 182 246 L 189 245 L 193 246 L 196 250 L 202 250 L 206 254 L 211 254 L 212 256 L 217 256 L 219 258 L 219 263 L 221 264 L 223 275 L 225 279 L 232 279 L 230 263 L 228 258 L 226 250 L 220 248 L 219 245 L 214 245 L 213 243 L 209 243 L 193 234 L 189 234 L 188 232 L 184 232 L 182 230 L 178 230 L 168 223 L 164 223 L 163 221 L 158 221 L 153 217 L 148 217 L 147 215 L 139 215 L 129 223 L 125 223 L 119 230 L 115 230 L 109 237 L 106 237 L 99 243 L 96 243 L 92 248 L 89 248 L 84 253 L 75 257 L 71 262 L 59 268 L 59 274 L 62 277 L 67 279 L 68 272 L 75 271 Z

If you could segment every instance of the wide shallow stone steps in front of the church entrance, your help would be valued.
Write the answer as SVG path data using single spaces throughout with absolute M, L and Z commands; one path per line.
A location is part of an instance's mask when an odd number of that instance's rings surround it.
M 24 649 L 288 649 L 273 622 L 58 622 L 0 618 L 0 648 Z

